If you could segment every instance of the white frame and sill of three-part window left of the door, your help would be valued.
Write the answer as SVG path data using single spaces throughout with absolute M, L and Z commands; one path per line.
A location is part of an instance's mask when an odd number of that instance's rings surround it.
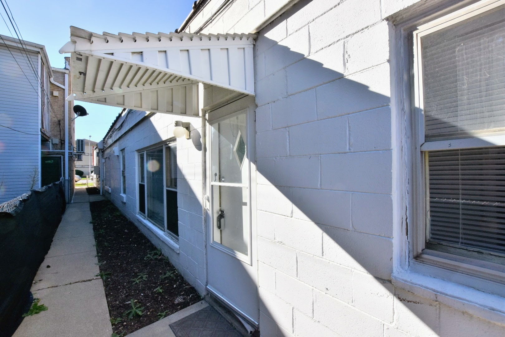
M 177 146 L 177 143 L 176 143 L 176 138 L 170 138 L 169 140 L 166 140 L 166 141 L 163 141 L 161 143 L 157 143 L 157 144 L 154 144 L 154 145 L 151 145 L 147 148 L 143 148 L 143 149 L 139 149 L 136 151 L 136 165 L 135 165 L 135 171 L 136 171 L 136 174 L 135 174 L 135 177 L 136 177 L 136 183 L 135 183 L 135 195 L 136 195 L 136 199 L 137 199 L 137 205 L 136 205 L 136 217 L 138 220 L 140 220 L 141 223 L 143 223 L 148 229 L 150 229 L 158 238 L 160 238 L 167 246 L 169 246 L 170 248 L 172 248 L 176 253 L 179 253 L 179 237 L 175 234 L 173 234 L 171 231 L 167 230 L 167 197 L 166 197 L 166 189 L 167 189 L 167 186 L 166 186 L 166 149 L 167 147 L 171 147 L 171 146 Z M 144 165 L 146 164 L 146 161 L 147 161 L 147 155 L 146 155 L 146 152 L 151 150 L 151 149 L 156 149 L 156 148 L 162 148 L 163 149 L 163 223 L 164 223 L 164 229 L 161 229 L 158 225 L 154 224 L 153 222 L 151 222 L 149 219 L 148 219 L 148 215 L 147 215 L 147 172 L 146 172 L 146 169 L 144 167 L 144 177 L 143 177 L 143 184 L 145 186 L 144 188 L 144 202 L 145 202 L 145 214 L 142 214 L 140 212 L 140 198 L 139 198 L 139 188 L 138 188 L 138 185 L 140 183 L 140 180 L 139 180 L 139 175 L 140 175 L 140 169 L 139 169 L 139 165 L 140 165 L 140 154 L 143 154 L 144 155 Z M 170 186 L 168 187 L 169 189 L 173 189 L 174 188 L 171 188 Z M 175 189 L 177 190 L 177 189 Z

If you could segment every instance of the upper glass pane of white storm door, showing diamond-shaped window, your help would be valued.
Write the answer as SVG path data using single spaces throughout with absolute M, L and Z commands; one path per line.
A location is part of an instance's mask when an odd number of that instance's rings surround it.
M 246 114 L 212 125 L 212 182 L 247 183 Z

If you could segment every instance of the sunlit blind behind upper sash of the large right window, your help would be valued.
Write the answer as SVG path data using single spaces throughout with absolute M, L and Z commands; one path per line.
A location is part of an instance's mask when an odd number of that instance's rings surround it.
M 421 38 L 425 138 L 505 129 L 505 6 Z

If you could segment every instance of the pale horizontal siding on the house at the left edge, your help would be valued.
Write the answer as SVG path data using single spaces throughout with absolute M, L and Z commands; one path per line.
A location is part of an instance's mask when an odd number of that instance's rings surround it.
M 38 169 L 40 158 L 40 103 L 38 92 L 34 90 L 34 88 L 38 90 L 38 81 L 24 52 L 21 53 L 11 46 L 9 49 L 19 66 L 7 47 L 0 46 L 2 67 L 0 71 L 0 124 L 4 125 L 0 126 L 0 181 L 3 181 L 0 187 L 0 202 L 16 198 L 29 191 L 30 176 L 34 168 Z M 37 53 L 28 52 L 28 55 L 38 71 Z M 35 187 L 38 187 L 38 180 Z

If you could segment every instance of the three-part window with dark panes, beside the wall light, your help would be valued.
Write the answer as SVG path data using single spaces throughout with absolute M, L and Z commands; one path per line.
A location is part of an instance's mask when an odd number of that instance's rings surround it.
M 138 153 L 138 214 L 164 232 L 179 235 L 175 143 Z

